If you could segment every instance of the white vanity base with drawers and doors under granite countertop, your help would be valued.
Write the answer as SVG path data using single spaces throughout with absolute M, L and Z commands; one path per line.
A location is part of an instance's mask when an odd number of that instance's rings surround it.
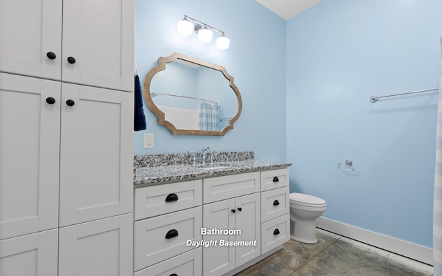
M 135 188 L 134 196 L 134 276 L 231 276 L 289 240 L 287 168 Z

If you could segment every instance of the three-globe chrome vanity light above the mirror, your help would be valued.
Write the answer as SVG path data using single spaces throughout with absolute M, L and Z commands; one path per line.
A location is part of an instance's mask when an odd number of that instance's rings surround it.
M 195 22 L 196 25 L 193 26 L 193 23 L 191 23 L 191 21 Z M 191 35 L 193 30 L 195 30 L 196 34 L 198 35 L 198 39 L 202 43 L 209 43 L 210 41 L 212 41 L 213 32 L 211 30 L 219 32 L 221 36 L 215 40 L 216 46 L 222 50 L 229 48 L 230 39 L 226 37 L 226 34 L 224 34 L 222 30 L 213 28 L 212 26 L 209 26 L 206 23 L 202 23 L 201 21 L 188 17 L 187 15 L 184 15 L 184 19 L 178 21 L 177 27 L 178 27 L 178 32 L 180 32 L 180 34 L 185 36 Z

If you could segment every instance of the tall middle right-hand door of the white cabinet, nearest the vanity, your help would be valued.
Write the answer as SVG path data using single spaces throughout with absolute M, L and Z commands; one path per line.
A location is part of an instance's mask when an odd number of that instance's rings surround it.
M 61 90 L 60 226 L 132 212 L 133 93 Z

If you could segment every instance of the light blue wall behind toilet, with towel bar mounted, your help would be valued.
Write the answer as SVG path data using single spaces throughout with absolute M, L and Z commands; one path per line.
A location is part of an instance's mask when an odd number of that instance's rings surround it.
M 287 21 L 291 191 L 324 217 L 432 247 L 440 0 L 324 0 Z M 354 162 L 354 172 L 338 163 Z

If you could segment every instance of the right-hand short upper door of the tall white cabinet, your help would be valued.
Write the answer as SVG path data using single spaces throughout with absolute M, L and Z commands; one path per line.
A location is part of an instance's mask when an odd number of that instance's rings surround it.
M 64 0 L 61 79 L 133 91 L 133 22 L 134 0 Z

